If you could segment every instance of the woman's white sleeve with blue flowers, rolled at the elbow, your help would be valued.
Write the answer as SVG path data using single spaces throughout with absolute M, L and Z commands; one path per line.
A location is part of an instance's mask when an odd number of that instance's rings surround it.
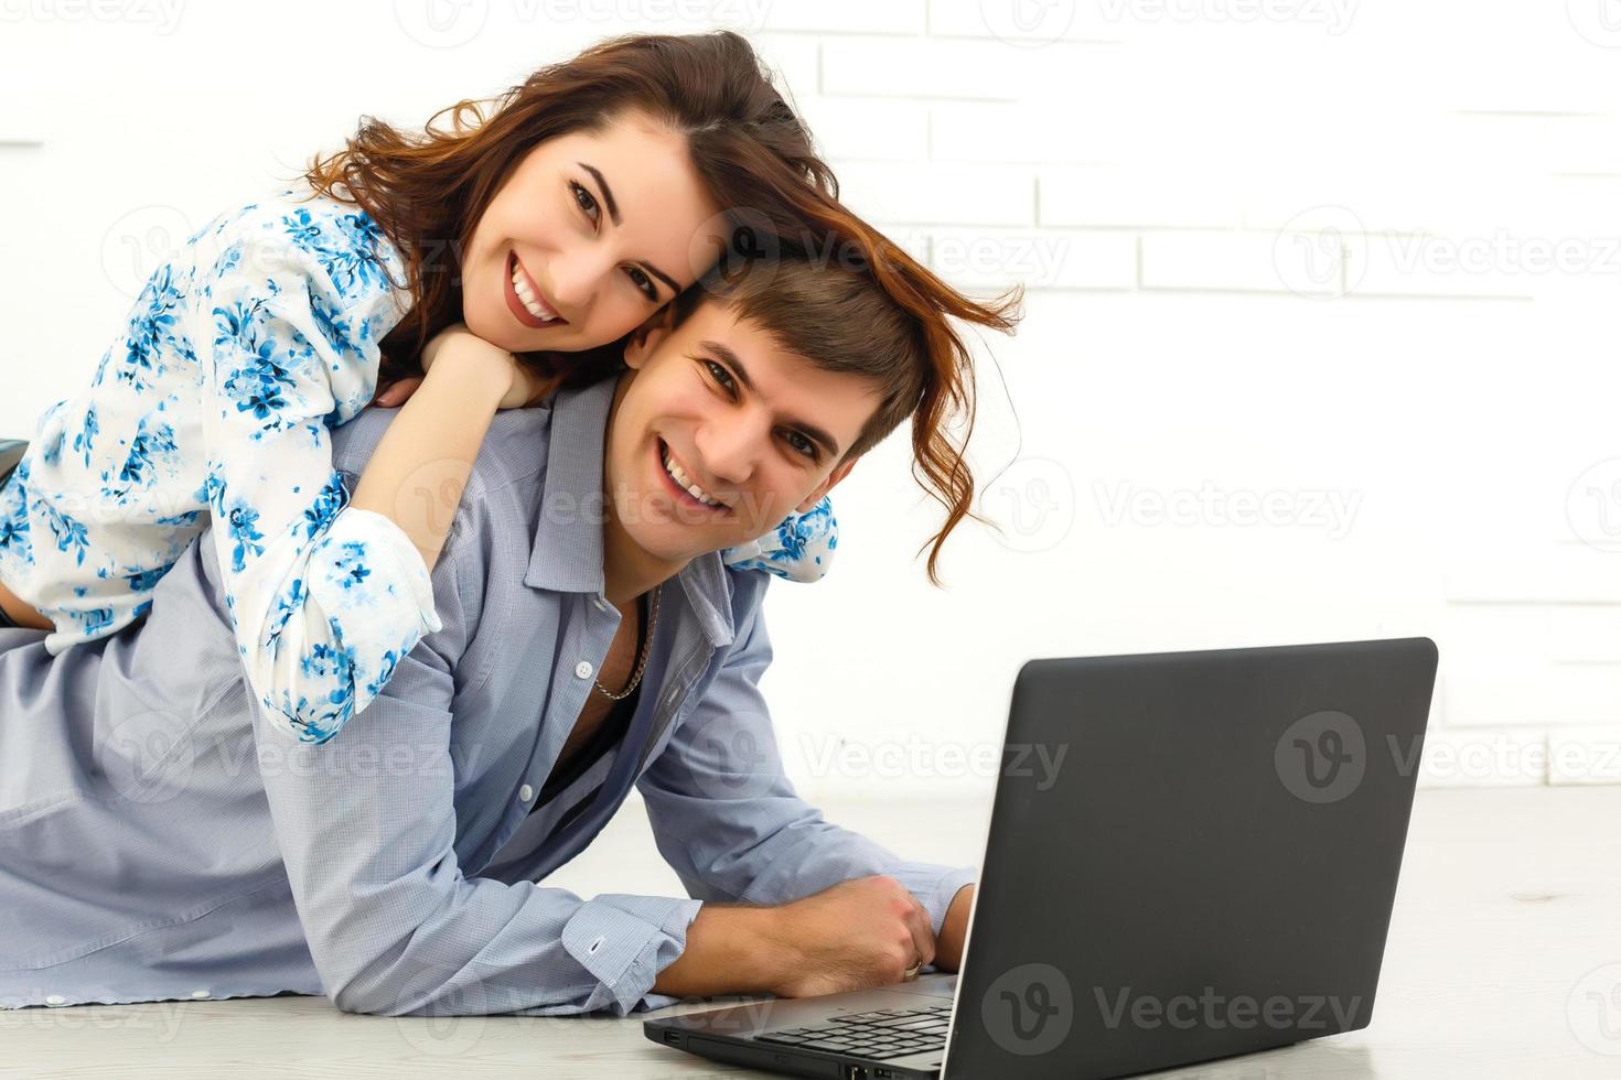
M 384 515 L 345 508 L 332 465 L 331 429 L 370 402 L 394 303 L 384 275 L 357 266 L 365 253 L 339 241 L 253 235 L 198 282 L 214 559 L 256 699 L 310 743 L 332 738 L 439 628 L 421 554 Z

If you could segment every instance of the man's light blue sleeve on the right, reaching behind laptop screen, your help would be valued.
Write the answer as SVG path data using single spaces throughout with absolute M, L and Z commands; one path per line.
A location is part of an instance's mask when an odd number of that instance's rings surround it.
M 799 798 L 759 690 L 770 662 L 755 604 L 715 682 L 637 780 L 660 853 L 705 900 L 775 905 L 887 874 L 917 897 L 939 934 L 977 870 L 903 860 Z

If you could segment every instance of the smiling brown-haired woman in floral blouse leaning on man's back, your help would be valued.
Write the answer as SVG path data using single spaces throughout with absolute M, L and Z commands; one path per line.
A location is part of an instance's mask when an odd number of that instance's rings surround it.
M 464 123 L 464 110 L 477 123 Z M 541 68 L 485 118 L 366 118 L 303 188 L 222 214 L 160 266 L 91 387 L 0 487 L 0 610 L 55 654 L 146 614 L 207 510 L 250 685 L 321 743 L 439 628 L 428 572 L 501 406 L 597 377 L 742 217 L 791 244 L 832 170 L 731 32 L 634 36 Z M 438 118 L 438 117 L 436 117 Z M 462 325 L 465 324 L 465 327 Z M 423 379 L 454 353 L 460 377 Z M 412 389 L 353 494 L 329 431 Z M 814 578 L 832 515 L 789 520 Z M 770 552 L 767 552 L 770 555 Z

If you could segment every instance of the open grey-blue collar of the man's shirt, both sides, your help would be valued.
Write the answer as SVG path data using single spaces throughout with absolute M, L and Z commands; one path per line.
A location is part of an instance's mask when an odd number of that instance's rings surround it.
M 524 575 L 530 588 L 603 593 L 603 442 L 616 385 L 618 379 L 603 379 L 559 390 L 553 402 L 535 544 Z M 731 581 L 720 552 L 704 552 L 676 580 L 710 644 L 731 644 Z

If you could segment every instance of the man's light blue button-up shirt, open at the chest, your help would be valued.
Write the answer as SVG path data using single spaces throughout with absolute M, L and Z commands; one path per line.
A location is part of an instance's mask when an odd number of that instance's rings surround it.
M 619 625 L 611 395 L 496 416 L 433 568 L 441 628 L 324 745 L 251 719 L 206 534 L 144 623 L 55 657 L 42 631 L 0 630 L 0 1006 L 297 991 L 389 1015 L 624 1015 L 674 1001 L 652 986 L 702 902 L 879 873 L 939 931 L 974 871 L 905 861 L 794 793 L 757 688 L 770 575 L 718 554 L 665 583 L 624 742 L 530 814 Z M 391 418 L 334 432 L 350 481 Z M 632 784 L 691 897 L 546 887 Z

